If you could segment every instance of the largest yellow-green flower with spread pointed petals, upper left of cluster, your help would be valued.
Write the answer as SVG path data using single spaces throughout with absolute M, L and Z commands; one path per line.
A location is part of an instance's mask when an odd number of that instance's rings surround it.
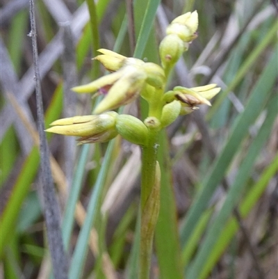
M 140 95 L 146 83 L 156 88 L 164 85 L 165 74 L 159 65 L 145 63 L 137 58 L 124 58 L 107 49 L 100 51 L 102 54 L 97 56 L 97 60 L 103 63 L 108 70 L 115 72 L 83 86 L 72 88 L 77 93 L 99 91 L 106 95 L 97 105 L 94 113 L 111 111 L 124 104 L 129 104 Z

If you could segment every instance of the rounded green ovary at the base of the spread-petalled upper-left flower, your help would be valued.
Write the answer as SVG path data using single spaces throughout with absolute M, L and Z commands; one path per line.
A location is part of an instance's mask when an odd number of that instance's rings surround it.
M 147 83 L 156 88 L 161 88 L 165 84 L 165 73 L 161 66 L 155 63 L 145 63 L 142 70 L 147 74 Z

